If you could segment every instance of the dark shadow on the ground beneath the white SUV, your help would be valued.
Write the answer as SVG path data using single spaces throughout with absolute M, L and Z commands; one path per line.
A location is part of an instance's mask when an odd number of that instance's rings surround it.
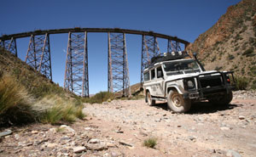
M 155 108 L 165 109 L 172 112 L 171 109 L 168 108 L 167 103 L 158 103 L 154 105 Z M 234 109 L 239 107 L 239 104 L 229 104 L 228 106 L 219 106 L 217 104 L 211 104 L 208 102 L 200 102 L 192 104 L 191 109 L 186 114 L 210 114 L 215 113 L 221 110 Z

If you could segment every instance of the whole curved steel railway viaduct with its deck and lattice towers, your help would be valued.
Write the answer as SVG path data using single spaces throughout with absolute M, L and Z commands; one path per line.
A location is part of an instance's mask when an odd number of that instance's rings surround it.
M 157 38 L 167 42 L 167 53 L 186 48 L 189 42 L 153 31 L 135 31 L 119 28 L 69 28 L 45 31 L 30 31 L 0 37 L 0 47 L 17 57 L 16 39 L 30 37 L 26 52 L 26 64 L 52 80 L 49 35 L 67 33 L 67 60 L 64 88 L 82 97 L 89 97 L 87 34 L 90 32 L 108 33 L 108 92 L 122 91 L 130 96 L 130 79 L 126 52 L 125 34 L 142 36 L 141 83 L 143 70 L 150 64 L 150 59 L 160 54 Z M 181 45 L 183 44 L 183 45 Z

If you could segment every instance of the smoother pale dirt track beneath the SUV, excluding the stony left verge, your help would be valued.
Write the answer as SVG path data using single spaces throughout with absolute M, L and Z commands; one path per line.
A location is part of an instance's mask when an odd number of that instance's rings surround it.
M 200 103 L 188 114 L 172 114 L 166 104 L 129 100 L 87 104 L 84 111 L 106 134 L 134 146 L 122 150 L 128 156 L 255 156 L 255 109 L 256 100 L 234 99 L 229 108 Z M 157 138 L 155 149 L 143 148 L 148 137 Z

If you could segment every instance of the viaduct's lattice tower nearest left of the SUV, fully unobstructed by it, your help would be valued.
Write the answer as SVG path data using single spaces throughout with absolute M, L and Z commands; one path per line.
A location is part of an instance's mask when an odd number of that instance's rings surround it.
M 108 32 L 108 92 L 131 96 L 125 33 Z

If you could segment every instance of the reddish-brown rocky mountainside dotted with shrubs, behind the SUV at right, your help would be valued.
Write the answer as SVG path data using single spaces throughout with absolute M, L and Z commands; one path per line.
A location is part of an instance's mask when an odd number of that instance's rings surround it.
M 242 0 L 230 6 L 187 50 L 199 53 L 207 70 L 234 70 L 256 88 L 255 48 L 256 0 Z

